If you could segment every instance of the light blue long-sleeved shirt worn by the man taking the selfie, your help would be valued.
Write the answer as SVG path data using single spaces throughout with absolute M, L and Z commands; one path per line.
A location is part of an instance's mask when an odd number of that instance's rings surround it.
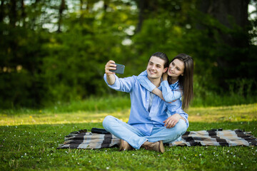
M 151 135 L 153 126 L 163 127 L 163 121 L 169 116 L 178 113 L 185 120 L 187 127 L 188 114 L 182 110 L 181 100 L 176 100 L 173 103 L 166 103 L 157 95 L 153 96 L 151 110 L 148 111 L 150 92 L 146 90 L 136 79 L 137 76 L 127 78 L 118 78 L 115 76 L 113 85 L 109 85 L 104 74 L 104 81 L 114 90 L 130 93 L 131 97 L 131 113 L 129 115 L 129 125 L 133 125 L 138 130 L 141 130 L 145 135 Z M 161 87 L 159 87 L 161 88 Z M 167 113 L 168 111 L 168 113 Z

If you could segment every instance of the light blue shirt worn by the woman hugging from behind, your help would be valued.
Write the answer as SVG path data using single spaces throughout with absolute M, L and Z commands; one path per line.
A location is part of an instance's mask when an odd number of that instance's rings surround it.
M 143 71 L 137 77 L 139 83 L 149 91 L 152 91 L 156 86 L 151 83 L 151 81 L 147 78 L 147 72 Z M 163 98 L 166 102 L 172 102 L 173 100 L 177 100 L 178 98 L 181 100 L 181 90 L 178 85 L 178 81 L 171 85 L 168 85 L 168 81 L 161 82 L 161 90 Z

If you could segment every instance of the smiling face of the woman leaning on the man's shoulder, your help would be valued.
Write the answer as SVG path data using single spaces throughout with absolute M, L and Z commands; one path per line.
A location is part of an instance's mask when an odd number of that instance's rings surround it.
M 185 63 L 176 58 L 169 65 L 167 73 L 168 76 L 171 76 L 172 78 L 178 78 L 178 76 L 181 76 L 181 74 L 183 74 L 184 69 Z

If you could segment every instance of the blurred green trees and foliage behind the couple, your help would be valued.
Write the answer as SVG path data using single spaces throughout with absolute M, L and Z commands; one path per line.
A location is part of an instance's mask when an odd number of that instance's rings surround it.
M 156 51 L 195 62 L 194 106 L 256 103 L 256 0 L 0 0 L 0 108 L 126 96 Z M 129 96 L 126 96 L 129 98 Z

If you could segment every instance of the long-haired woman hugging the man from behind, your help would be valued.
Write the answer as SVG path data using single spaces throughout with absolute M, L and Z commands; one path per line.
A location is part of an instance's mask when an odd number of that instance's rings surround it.
M 137 79 L 143 87 L 168 103 L 183 97 L 182 108 L 186 110 L 193 100 L 193 58 L 185 53 L 178 54 L 162 78 L 161 90 L 148 80 L 146 71 Z

